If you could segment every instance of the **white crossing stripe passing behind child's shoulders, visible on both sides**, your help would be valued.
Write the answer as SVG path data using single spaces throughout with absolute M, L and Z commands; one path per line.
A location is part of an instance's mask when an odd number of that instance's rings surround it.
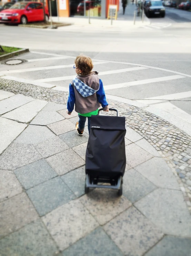
M 101 63 L 100 63 L 101 64 Z M 136 67 L 136 68 L 127 68 L 127 69 L 117 69 L 117 70 L 110 70 L 110 71 L 104 71 L 100 72 L 99 76 L 107 75 L 107 74 L 115 74 L 115 73 L 122 73 L 122 72 L 128 72 L 133 70 L 140 70 L 140 69 L 147 69 L 144 67 Z M 44 78 L 44 79 L 38 79 L 35 81 L 39 81 L 41 83 L 43 82 L 53 82 L 53 81 L 63 81 L 63 80 L 69 80 L 72 79 L 74 76 L 65 76 L 65 77 L 53 77 L 53 78 Z

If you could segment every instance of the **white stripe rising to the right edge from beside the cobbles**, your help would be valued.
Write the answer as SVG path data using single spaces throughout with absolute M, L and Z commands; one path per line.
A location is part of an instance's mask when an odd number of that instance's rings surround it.
M 174 94 L 167 94 L 162 96 L 156 96 L 151 98 L 145 98 L 137 100 L 144 104 L 153 104 L 153 103 L 159 103 L 166 100 L 174 100 L 174 99 L 182 99 L 182 98 L 188 98 L 191 97 L 191 91 L 185 91 L 185 92 L 179 92 Z

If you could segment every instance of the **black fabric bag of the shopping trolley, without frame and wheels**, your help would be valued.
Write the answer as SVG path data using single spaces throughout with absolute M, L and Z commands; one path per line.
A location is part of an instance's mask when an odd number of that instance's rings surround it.
M 125 133 L 125 117 L 91 116 L 86 174 L 93 178 L 124 175 Z

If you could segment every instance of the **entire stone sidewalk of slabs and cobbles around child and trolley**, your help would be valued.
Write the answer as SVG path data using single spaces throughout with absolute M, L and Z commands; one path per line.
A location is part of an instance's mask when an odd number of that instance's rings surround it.
M 0 90 L 0 255 L 190 254 L 187 134 L 109 100 L 126 116 L 123 195 L 109 189 L 86 195 L 88 130 L 77 135 L 67 94 L 50 97 L 46 88 L 17 85 Z

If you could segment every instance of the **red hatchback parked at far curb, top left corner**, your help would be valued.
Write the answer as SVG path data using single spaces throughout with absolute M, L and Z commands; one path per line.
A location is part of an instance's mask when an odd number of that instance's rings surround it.
M 45 7 L 46 20 L 49 20 L 49 12 Z M 11 8 L 0 12 L 0 23 L 27 24 L 32 21 L 43 21 L 42 3 L 17 2 Z

